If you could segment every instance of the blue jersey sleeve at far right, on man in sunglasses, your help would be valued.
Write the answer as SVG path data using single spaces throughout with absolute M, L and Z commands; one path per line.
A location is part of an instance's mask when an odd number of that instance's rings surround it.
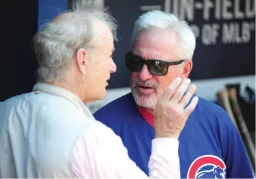
M 223 144 L 227 178 L 253 178 L 253 170 L 245 145 L 235 124 L 227 114 L 223 114 Z

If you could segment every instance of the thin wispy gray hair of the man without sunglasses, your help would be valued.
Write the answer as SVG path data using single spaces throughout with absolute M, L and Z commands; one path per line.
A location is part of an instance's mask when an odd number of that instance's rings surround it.
M 42 26 L 33 38 L 38 80 L 62 79 L 79 48 L 91 50 L 100 45 L 93 25 L 96 20 L 106 24 L 117 40 L 115 19 L 93 1 L 78 0 L 71 9 Z

